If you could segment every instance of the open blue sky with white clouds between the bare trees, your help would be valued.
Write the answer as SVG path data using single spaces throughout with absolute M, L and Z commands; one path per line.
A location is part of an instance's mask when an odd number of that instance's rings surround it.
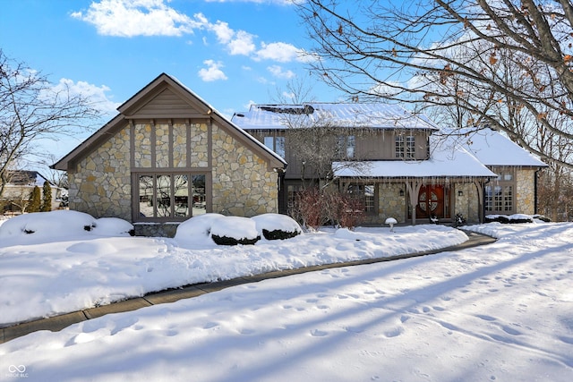
M 308 81 L 311 42 L 288 0 L 0 0 L 4 55 L 115 107 L 161 72 L 223 115 L 277 100 Z M 106 122 L 104 121 L 104 122 Z M 94 130 L 103 123 L 94 125 Z M 67 153 L 79 143 L 58 149 Z

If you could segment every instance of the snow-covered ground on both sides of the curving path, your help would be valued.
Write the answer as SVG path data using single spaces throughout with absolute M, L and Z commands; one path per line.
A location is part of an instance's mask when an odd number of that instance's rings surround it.
M 0 380 L 573 380 L 573 225 L 472 229 L 500 240 L 243 284 L 32 333 L 0 344 Z M 0 290 L 12 296 L 1 296 L 0 316 L 12 322 L 178 283 L 464 240 L 439 225 L 394 230 L 230 248 L 94 236 L 0 242 Z

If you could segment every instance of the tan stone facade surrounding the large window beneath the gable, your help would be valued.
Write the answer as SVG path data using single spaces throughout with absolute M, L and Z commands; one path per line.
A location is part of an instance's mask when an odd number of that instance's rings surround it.
M 173 161 L 174 167 L 183 170 L 187 163 L 187 153 L 190 153 L 190 168 L 211 174 L 212 196 L 208 212 L 256 216 L 278 211 L 278 173 L 269 171 L 267 161 L 217 124 L 211 125 L 211 138 L 207 123 L 192 123 L 191 129 L 187 129 L 184 123 L 174 123 L 172 128 L 172 159 L 168 140 L 170 127 L 167 123 L 135 123 L 133 137 L 130 134 L 130 126 L 126 124 L 98 149 L 81 159 L 76 171 L 69 174 L 70 208 L 95 217 L 115 216 L 132 221 L 130 148 L 135 147 L 133 163 L 140 172 L 152 172 L 155 168 L 172 168 L 170 160 Z M 151 134 L 152 130 L 154 134 Z M 188 131 L 191 132 L 189 139 L 186 136 Z M 153 136 L 155 145 L 151 142 Z M 192 147 L 185 149 L 188 141 Z M 151 166 L 153 157 L 155 167 Z M 138 224 L 136 228 L 138 234 L 171 236 L 175 233 L 175 227 L 176 225 L 145 223 Z

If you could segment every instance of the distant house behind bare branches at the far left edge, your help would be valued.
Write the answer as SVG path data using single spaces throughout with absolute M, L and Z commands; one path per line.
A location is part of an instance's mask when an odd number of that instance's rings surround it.
M 4 191 L 0 196 L 0 206 L 4 214 L 17 214 L 22 212 L 22 207 L 30 199 L 30 194 L 34 187 L 40 190 L 44 183 L 50 185 L 52 191 L 52 209 L 60 206 L 65 190 L 50 183 L 46 177 L 38 171 L 16 170 L 8 174 L 8 183 L 4 185 Z

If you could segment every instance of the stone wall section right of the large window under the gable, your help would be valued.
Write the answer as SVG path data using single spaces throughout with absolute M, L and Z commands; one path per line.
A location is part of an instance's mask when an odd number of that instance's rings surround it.
M 278 174 L 217 125 L 213 129 L 213 212 L 256 216 L 278 212 Z

